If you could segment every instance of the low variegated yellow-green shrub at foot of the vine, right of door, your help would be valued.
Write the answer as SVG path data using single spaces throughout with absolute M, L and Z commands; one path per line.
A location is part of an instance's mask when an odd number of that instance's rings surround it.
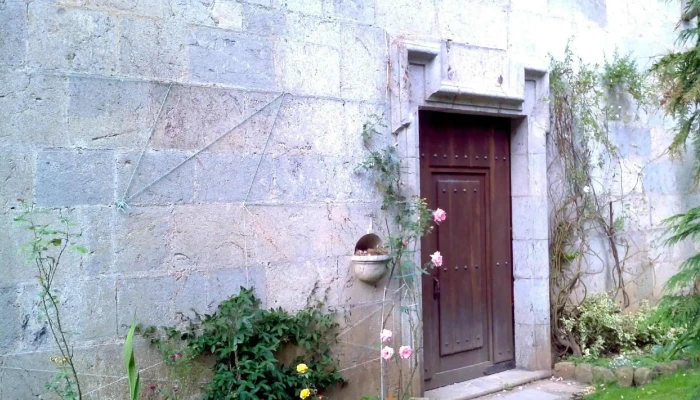
M 673 332 L 655 324 L 653 315 L 645 303 L 636 313 L 623 313 L 609 295 L 600 294 L 588 297 L 562 323 L 578 340 L 583 357 L 595 359 L 672 340 Z

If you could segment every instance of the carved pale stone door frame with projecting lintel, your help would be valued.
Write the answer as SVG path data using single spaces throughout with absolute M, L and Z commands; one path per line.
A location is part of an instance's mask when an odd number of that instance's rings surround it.
M 511 120 L 515 365 L 531 371 L 551 370 L 549 211 L 546 196 L 547 71 L 525 67 L 508 57 L 503 58 L 499 71 L 475 71 L 474 64 L 468 60 L 471 57 L 483 59 L 493 50 L 464 46 L 462 57 L 452 57 L 447 46 L 446 42 L 403 39 L 391 43 L 391 131 L 405 166 L 404 185 L 408 193 L 420 195 L 418 110 L 489 115 Z M 452 48 L 451 52 L 454 50 Z M 537 62 L 533 60 L 533 65 Z M 485 68 L 493 67 L 489 64 Z M 452 80 L 454 76 L 478 76 L 479 79 L 460 83 Z M 494 82 L 485 78 L 488 76 L 493 76 Z M 496 85 L 500 87 L 494 90 Z M 418 265 L 420 255 L 418 248 Z M 422 314 L 422 310 L 418 312 Z M 408 316 L 403 318 L 401 323 L 407 326 Z M 420 343 L 418 357 L 421 367 L 413 385 L 422 393 L 422 337 L 411 337 L 410 329 L 401 329 L 401 332 L 404 340 Z

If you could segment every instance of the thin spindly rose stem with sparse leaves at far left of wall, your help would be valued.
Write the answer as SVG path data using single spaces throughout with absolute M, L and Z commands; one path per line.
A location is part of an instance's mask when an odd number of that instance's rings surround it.
M 74 244 L 80 234 L 73 232 L 74 224 L 68 218 L 61 214 L 58 222 L 43 222 L 51 219 L 48 211 L 22 202 L 22 211 L 14 221 L 31 233 L 31 239 L 20 252 L 26 256 L 27 264 L 36 268 L 36 278 L 41 288 L 39 305 L 60 353 L 60 356 L 51 357 L 58 366 L 58 372 L 47 382 L 46 389 L 62 399 L 77 400 L 82 397 L 82 390 L 73 362 L 73 346 L 61 321 L 61 301 L 54 280 L 68 251 L 85 254 L 87 249 Z

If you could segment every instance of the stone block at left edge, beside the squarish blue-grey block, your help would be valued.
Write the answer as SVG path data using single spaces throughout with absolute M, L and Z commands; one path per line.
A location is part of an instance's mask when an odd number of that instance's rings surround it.
M 17 205 L 17 199 L 34 198 L 34 156 L 29 151 L 0 148 L 0 211 Z

